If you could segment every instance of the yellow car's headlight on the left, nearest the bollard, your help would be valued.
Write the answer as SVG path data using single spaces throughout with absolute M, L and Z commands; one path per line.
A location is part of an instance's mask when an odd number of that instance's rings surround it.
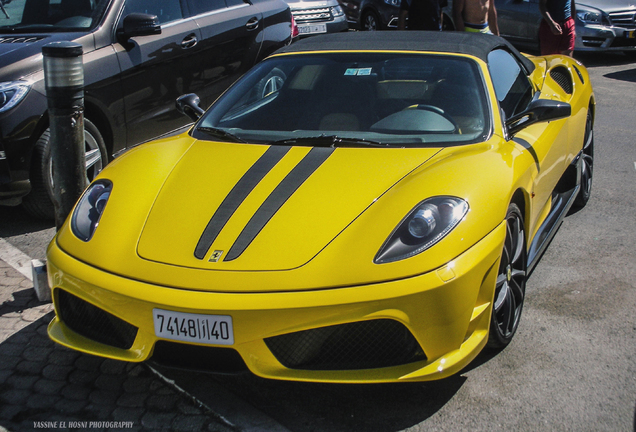
M 71 219 L 71 229 L 77 238 L 89 241 L 93 237 L 112 190 L 113 184 L 108 180 L 98 180 L 86 189 Z

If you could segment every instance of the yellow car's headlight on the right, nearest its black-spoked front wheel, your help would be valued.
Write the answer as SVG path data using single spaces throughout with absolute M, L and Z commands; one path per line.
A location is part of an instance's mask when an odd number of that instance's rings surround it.
M 419 203 L 400 222 L 375 256 L 383 264 L 417 255 L 443 239 L 468 212 L 461 198 L 440 196 Z

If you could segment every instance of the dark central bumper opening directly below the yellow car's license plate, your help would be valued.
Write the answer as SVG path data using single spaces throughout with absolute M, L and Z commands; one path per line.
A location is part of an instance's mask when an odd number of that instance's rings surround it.
M 247 370 L 241 355 L 232 348 L 157 341 L 150 361 L 171 368 L 204 372 L 238 373 Z

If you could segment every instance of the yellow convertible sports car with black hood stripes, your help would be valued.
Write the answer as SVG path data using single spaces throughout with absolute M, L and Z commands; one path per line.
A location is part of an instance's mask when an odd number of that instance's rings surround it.
M 48 249 L 55 341 L 302 381 L 447 377 L 506 346 L 590 196 L 594 95 L 495 36 L 317 36 L 108 166 Z

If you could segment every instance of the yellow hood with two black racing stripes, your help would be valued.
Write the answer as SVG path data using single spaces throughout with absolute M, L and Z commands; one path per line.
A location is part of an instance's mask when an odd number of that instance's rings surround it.
M 197 141 L 154 200 L 138 256 L 206 270 L 298 268 L 438 151 Z

